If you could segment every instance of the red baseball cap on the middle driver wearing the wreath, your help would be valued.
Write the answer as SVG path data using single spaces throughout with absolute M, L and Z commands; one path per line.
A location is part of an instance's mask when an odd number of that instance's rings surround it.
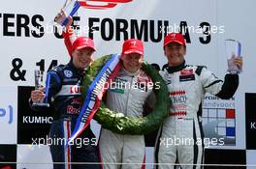
M 123 42 L 122 54 L 138 53 L 144 55 L 144 42 L 130 39 Z

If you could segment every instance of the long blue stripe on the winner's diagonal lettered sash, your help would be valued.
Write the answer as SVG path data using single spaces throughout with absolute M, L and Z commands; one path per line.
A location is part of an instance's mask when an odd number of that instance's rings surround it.
M 73 130 L 72 132 L 72 135 L 71 137 L 73 137 L 77 131 L 79 130 L 79 127 L 80 127 L 80 120 L 83 116 L 83 112 L 86 110 L 88 104 L 89 104 L 89 101 L 90 101 L 90 94 L 92 93 L 94 87 L 96 86 L 97 82 L 99 81 L 99 79 L 101 78 L 101 76 L 104 74 L 104 72 L 109 68 L 109 66 L 112 64 L 112 62 L 114 60 L 116 60 L 118 58 L 118 54 L 113 54 L 112 55 L 112 58 L 104 65 L 104 67 L 102 68 L 102 70 L 98 73 L 98 75 L 95 77 L 95 79 L 92 81 L 92 83 L 90 84 L 88 90 L 87 90 L 87 93 L 86 93 L 86 96 L 85 96 L 85 101 L 84 103 L 82 104 L 82 107 L 80 109 L 80 115 L 79 115 L 79 118 L 77 120 L 77 123 L 76 123 L 76 127 L 75 129 Z

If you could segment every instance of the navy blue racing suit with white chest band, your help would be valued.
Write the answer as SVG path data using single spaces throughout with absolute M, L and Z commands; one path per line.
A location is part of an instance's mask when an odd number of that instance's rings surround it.
M 54 121 L 49 129 L 50 153 L 53 162 L 57 162 L 54 163 L 54 169 L 100 169 L 100 165 L 96 164 L 68 163 L 99 162 L 96 138 L 90 127 L 86 127 L 71 146 L 65 146 L 80 113 L 83 73 L 84 71 L 75 68 L 72 60 L 67 65 L 60 65 L 48 71 L 46 99 L 53 103 L 55 109 Z

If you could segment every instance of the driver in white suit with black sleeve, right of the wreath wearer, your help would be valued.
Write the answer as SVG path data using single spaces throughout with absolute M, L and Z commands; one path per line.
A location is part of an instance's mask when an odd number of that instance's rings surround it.
M 239 75 L 229 72 L 223 82 L 206 67 L 186 65 L 186 42 L 182 34 L 168 34 L 163 47 L 168 66 L 160 74 L 168 86 L 172 106 L 170 116 L 161 127 L 156 147 L 157 168 L 173 169 L 174 165 L 166 164 L 175 164 L 176 161 L 182 169 L 201 168 L 204 158 L 201 116 L 205 94 L 220 99 L 232 98 L 239 86 Z M 241 69 L 241 58 L 235 62 Z

